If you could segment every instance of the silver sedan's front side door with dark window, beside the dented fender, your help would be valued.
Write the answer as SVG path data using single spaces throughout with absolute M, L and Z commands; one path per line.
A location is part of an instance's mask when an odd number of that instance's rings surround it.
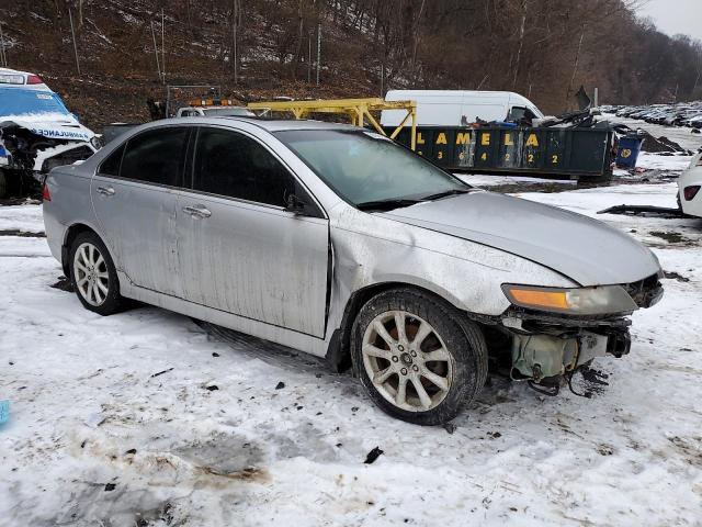
M 201 127 L 179 202 L 183 296 L 316 337 L 325 332 L 329 225 L 292 172 L 244 132 Z M 285 210 L 293 193 L 307 203 Z

